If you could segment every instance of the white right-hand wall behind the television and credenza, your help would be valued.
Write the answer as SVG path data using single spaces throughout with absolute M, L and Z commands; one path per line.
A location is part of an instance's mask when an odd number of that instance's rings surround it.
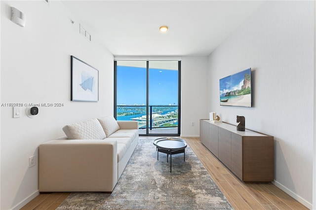
M 219 79 L 253 72 L 253 107 L 219 105 Z M 209 56 L 209 108 L 275 138 L 275 184 L 312 208 L 314 2 L 267 1 Z M 206 117 L 206 116 L 205 116 Z

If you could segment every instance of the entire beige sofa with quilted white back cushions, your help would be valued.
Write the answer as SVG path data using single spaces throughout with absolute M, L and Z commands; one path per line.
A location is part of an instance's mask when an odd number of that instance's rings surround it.
M 73 123 L 39 146 L 40 192 L 112 192 L 138 143 L 138 122 Z

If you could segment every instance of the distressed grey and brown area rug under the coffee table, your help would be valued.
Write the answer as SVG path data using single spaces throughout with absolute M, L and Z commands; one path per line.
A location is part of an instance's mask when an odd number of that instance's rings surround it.
M 182 154 L 159 152 L 140 139 L 114 191 L 73 192 L 57 210 L 211 210 L 233 209 L 189 147 Z

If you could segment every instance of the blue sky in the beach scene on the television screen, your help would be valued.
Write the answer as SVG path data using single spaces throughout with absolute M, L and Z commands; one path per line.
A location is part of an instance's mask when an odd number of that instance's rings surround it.
M 250 71 L 250 69 L 243 70 L 231 76 L 220 79 L 220 96 L 225 96 L 227 92 L 233 90 L 240 90 L 241 86 L 243 85 L 245 74 L 250 74 Z

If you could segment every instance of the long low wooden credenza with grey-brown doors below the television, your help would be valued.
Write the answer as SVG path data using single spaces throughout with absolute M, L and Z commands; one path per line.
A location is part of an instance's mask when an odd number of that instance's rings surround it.
M 273 181 L 273 136 L 236 127 L 201 119 L 200 141 L 242 181 Z

